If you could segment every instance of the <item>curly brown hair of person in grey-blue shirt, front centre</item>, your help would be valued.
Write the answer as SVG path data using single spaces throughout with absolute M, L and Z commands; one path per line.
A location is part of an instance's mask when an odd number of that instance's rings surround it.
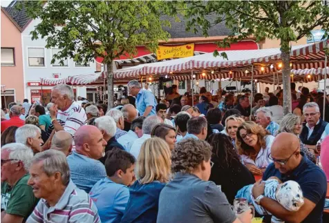
M 212 146 L 199 139 L 183 139 L 178 142 L 171 153 L 172 173 L 193 173 L 203 161 L 209 161 L 212 156 Z

